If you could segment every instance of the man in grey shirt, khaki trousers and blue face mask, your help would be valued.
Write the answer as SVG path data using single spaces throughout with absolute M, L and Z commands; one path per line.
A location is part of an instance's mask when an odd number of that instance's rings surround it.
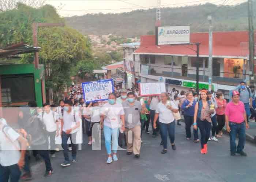
M 140 114 L 145 114 L 142 111 L 142 105 L 138 100 L 135 100 L 134 92 L 129 92 L 127 101 L 123 102 L 125 113 L 125 135 L 127 143 L 127 155 L 134 153 L 136 158 L 140 157 L 141 146 L 141 123 Z M 133 137 L 132 137 L 133 136 Z M 130 140 L 132 138 L 132 141 Z

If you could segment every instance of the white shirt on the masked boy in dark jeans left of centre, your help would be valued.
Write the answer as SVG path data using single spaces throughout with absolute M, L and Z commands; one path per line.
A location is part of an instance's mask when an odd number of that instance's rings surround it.
M 74 118 L 74 115 L 75 115 L 75 118 Z M 73 109 L 70 113 L 68 113 L 67 111 L 64 111 L 64 113 L 63 113 L 64 124 L 63 124 L 62 131 L 66 132 L 67 130 L 71 129 L 72 127 L 74 127 L 76 125 L 77 122 L 79 122 L 79 120 L 80 120 L 79 114 L 77 112 L 74 113 Z M 76 128 L 71 133 L 75 133 L 78 130 L 79 130 L 79 128 Z

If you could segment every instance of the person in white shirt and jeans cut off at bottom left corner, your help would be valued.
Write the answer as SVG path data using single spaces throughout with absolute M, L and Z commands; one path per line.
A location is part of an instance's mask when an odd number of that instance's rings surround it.
M 27 141 L 0 118 L 0 181 L 18 182 L 24 166 Z M 20 151 L 19 151 L 20 150 Z

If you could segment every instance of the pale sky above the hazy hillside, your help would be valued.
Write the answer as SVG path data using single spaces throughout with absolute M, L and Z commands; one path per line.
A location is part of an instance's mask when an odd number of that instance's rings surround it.
M 161 7 L 181 7 L 212 3 L 236 5 L 247 0 L 161 0 Z M 87 13 L 122 13 L 136 9 L 149 9 L 157 6 L 158 0 L 47 0 L 46 4 L 57 8 L 61 16 L 84 15 Z

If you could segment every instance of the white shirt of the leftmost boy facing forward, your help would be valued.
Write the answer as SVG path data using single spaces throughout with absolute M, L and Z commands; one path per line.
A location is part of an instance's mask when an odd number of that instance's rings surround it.
M 53 118 L 54 116 L 54 118 Z M 49 113 L 44 111 L 44 118 L 42 118 L 43 122 L 45 123 L 46 126 L 46 131 L 48 132 L 53 132 L 56 131 L 56 120 L 59 119 L 59 116 L 57 115 L 57 113 L 53 114 L 53 111 L 50 110 Z

